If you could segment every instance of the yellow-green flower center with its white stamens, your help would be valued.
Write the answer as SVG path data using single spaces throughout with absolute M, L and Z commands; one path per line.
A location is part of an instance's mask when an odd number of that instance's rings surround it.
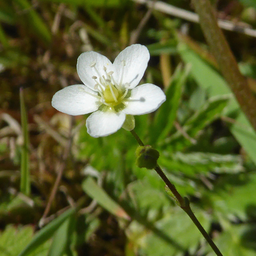
M 100 74 L 96 68 L 96 62 L 93 61 L 90 65 L 97 74 L 97 76 L 92 76 L 96 84 L 94 90 L 98 92 L 97 98 L 99 101 L 108 106 L 111 109 L 118 111 L 118 108 L 115 106 L 122 103 L 124 97 L 127 95 L 128 89 L 125 88 L 122 84 L 123 73 L 124 73 L 125 62 L 122 61 L 122 71 L 120 81 L 117 83 L 113 77 L 113 71 L 107 72 L 106 67 L 103 67 L 104 75 Z M 129 84 L 126 84 L 129 87 Z

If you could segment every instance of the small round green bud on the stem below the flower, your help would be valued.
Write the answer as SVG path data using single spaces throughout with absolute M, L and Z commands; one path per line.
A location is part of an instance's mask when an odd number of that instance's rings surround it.
M 150 145 L 139 146 L 136 150 L 136 164 L 139 168 L 154 169 L 157 166 L 159 152 Z

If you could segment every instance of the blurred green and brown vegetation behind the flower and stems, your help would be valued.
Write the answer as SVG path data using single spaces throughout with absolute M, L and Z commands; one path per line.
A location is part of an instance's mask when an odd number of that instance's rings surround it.
M 255 28 L 255 1 L 211 2 L 220 18 Z M 165 3 L 193 11 L 189 1 Z M 87 116 L 51 106 L 56 91 L 80 83 L 79 54 L 113 61 L 146 12 L 130 0 L 0 2 L 0 256 L 214 255 L 155 172 L 136 167 L 129 132 L 95 139 Z M 256 78 L 256 38 L 225 36 L 241 72 Z M 166 102 L 135 117 L 135 131 L 223 255 L 256 255 L 256 133 L 200 26 L 153 10 L 137 42 L 151 53 L 142 82 Z

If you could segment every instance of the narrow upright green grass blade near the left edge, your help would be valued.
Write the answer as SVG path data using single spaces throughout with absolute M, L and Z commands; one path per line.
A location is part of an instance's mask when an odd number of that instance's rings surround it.
M 28 131 L 28 118 L 24 102 L 23 89 L 19 91 L 20 100 L 20 114 L 22 116 L 22 159 L 20 162 L 20 191 L 29 196 L 30 195 L 30 168 L 29 168 L 29 131 Z

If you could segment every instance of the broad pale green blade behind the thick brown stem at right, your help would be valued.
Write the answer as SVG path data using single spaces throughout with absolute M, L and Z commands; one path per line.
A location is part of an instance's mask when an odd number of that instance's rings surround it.
M 184 44 L 180 44 L 178 49 L 184 62 L 192 65 L 191 74 L 194 79 L 200 87 L 207 90 L 210 96 L 232 95 L 223 77 L 193 50 Z M 230 125 L 230 132 L 236 137 L 241 146 L 245 148 L 251 160 L 256 163 L 256 133 L 253 131 L 246 116 L 241 112 L 237 100 L 232 97 L 232 100 L 227 105 L 226 115 L 231 115 L 234 112 L 237 112 L 237 117 L 236 122 Z

